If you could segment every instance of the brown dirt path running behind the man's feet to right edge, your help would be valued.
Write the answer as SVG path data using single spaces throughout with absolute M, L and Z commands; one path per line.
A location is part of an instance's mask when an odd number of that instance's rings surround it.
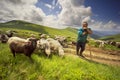
M 91 54 L 90 54 L 91 50 Z M 66 55 L 79 57 L 76 55 L 75 47 L 65 48 Z M 83 53 L 86 60 L 94 61 L 98 63 L 120 66 L 120 52 L 119 51 L 108 51 L 95 47 L 86 46 L 86 50 Z

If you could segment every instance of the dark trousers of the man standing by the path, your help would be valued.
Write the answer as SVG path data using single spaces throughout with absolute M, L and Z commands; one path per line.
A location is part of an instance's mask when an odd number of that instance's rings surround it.
M 79 55 L 79 51 L 80 51 L 80 55 L 82 55 L 83 51 L 85 50 L 85 45 L 86 45 L 86 42 L 77 41 L 77 44 L 76 44 L 77 55 Z

